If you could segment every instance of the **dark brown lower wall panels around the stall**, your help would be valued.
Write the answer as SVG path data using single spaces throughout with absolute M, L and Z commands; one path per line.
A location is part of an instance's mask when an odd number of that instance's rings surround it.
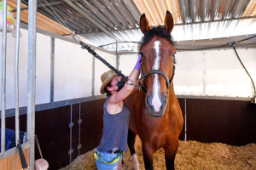
M 142 92 L 143 93 L 143 92 Z M 105 99 L 36 112 L 36 134 L 49 170 L 65 167 L 79 154 L 93 150 L 102 138 L 102 116 Z M 205 143 L 232 145 L 256 143 L 256 105 L 229 99 L 191 99 L 178 97 L 187 115 L 187 139 Z M 79 120 L 82 123 L 79 127 Z M 15 128 L 15 117 L 6 119 Z M 73 122 L 73 127 L 69 124 Z M 20 130 L 26 131 L 26 114 L 20 115 Z M 184 139 L 185 132 L 179 139 Z M 79 143 L 80 139 L 80 143 Z M 79 150 L 79 144 L 82 144 Z M 73 149 L 71 155 L 68 151 Z M 39 158 L 36 149 L 36 159 Z

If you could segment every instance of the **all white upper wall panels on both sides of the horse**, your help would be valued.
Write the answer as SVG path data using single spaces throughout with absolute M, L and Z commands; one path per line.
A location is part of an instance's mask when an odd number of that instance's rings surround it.
M 20 107 L 26 106 L 28 44 L 27 31 L 21 29 L 21 33 Z M 7 37 L 6 108 L 11 109 L 15 107 L 15 37 L 11 34 L 7 34 Z M 99 50 L 96 50 L 96 53 L 116 66 L 116 55 Z M 256 48 L 237 48 L 237 53 L 256 82 Z M 253 84 L 232 48 L 177 51 L 176 59 L 177 69 L 173 82 L 177 95 L 253 97 Z M 128 76 L 136 62 L 137 54 L 119 55 L 119 70 Z M 54 70 L 54 101 L 61 101 L 99 95 L 101 75 L 109 69 L 80 45 L 55 38 Z M 49 96 L 50 37 L 38 33 L 36 105 L 49 103 Z

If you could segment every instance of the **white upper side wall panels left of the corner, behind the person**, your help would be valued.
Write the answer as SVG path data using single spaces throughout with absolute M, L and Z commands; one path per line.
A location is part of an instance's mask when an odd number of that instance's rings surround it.
M 20 29 L 19 93 L 20 107 L 26 106 L 27 92 L 27 30 Z M 0 32 L 2 39 L 2 32 Z M 6 52 L 6 109 L 15 108 L 15 37 L 7 34 Z M 98 59 L 79 44 L 55 38 L 54 101 L 78 99 L 100 94 L 101 75 L 108 71 Z M 0 47 L 2 51 L 2 46 Z M 116 56 L 99 50 L 96 53 L 115 66 Z M 2 75 L 0 65 L 0 75 Z M 93 71 L 95 82 L 93 82 Z M 2 84 L 0 84 L 1 88 Z M 93 89 L 92 87 L 95 86 Z M 0 94 L 1 95 L 1 94 Z M 37 33 L 36 105 L 49 103 L 50 98 L 50 37 Z

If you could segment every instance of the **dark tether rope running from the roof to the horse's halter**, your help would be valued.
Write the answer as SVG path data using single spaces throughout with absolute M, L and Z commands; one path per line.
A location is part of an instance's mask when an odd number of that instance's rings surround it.
M 40 0 L 38 0 L 38 2 L 41 3 Z M 47 2 L 47 0 L 45 0 L 45 2 L 46 2 L 46 3 L 49 5 L 49 7 L 55 12 L 55 9 L 51 7 L 51 5 Z M 42 4 L 42 6 L 44 6 L 43 3 L 41 3 L 41 4 Z M 88 46 L 86 43 L 82 42 L 82 41 L 79 39 L 79 37 L 77 37 L 77 35 L 76 35 L 73 31 L 71 31 L 71 30 L 68 28 L 68 26 L 66 25 L 66 23 L 61 19 L 61 17 L 60 17 L 56 12 L 55 12 L 56 16 L 57 16 L 61 21 L 58 20 L 58 19 L 55 17 L 55 15 L 52 14 L 52 13 L 49 11 L 48 8 L 46 8 L 45 6 L 44 6 L 44 8 L 49 12 L 49 14 L 51 14 L 51 15 L 55 18 L 55 20 L 57 20 L 57 21 L 61 24 L 61 26 L 65 27 L 65 28 L 67 29 L 67 31 L 70 33 L 71 37 L 73 37 L 73 39 L 74 39 L 76 42 L 79 42 L 79 44 L 82 46 L 81 48 L 87 49 L 87 51 L 88 51 L 90 54 L 92 54 L 93 56 L 95 56 L 97 59 L 101 60 L 104 65 L 107 65 L 108 68 L 110 68 L 112 71 L 114 71 L 115 73 L 117 73 L 117 74 L 119 75 L 119 77 L 122 77 L 128 85 L 132 85 L 132 86 L 135 86 L 135 87 L 137 87 L 137 88 L 140 88 L 140 87 L 141 87 L 141 86 L 137 86 L 136 84 L 134 84 L 134 82 L 132 82 L 131 79 L 128 79 L 127 77 L 125 77 L 125 75 L 123 75 L 121 72 L 119 72 L 117 69 L 115 69 L 115 68 L 114 68 L 112 65 L 110 65 L 105 59 L 102 59 L 102 57 L 101 57 L 100 55 L 96 54 L 96 52 L 95 52 L 93 49 L 91 49 L 90 46 Z M 62 22 L 63 24 L 62 24 L 61 22 Z M 64 26 L 64 25 L 65 25 L 65 26 Z M 128 82 L 128 81 L 130 81 L 130 82 Z

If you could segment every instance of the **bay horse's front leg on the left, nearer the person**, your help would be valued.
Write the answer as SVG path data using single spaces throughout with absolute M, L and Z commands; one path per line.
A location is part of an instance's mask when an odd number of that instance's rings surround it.
M 146 170 L 153 170 L 154 150 L 151 144 L 143 143 L 143 159 Z

